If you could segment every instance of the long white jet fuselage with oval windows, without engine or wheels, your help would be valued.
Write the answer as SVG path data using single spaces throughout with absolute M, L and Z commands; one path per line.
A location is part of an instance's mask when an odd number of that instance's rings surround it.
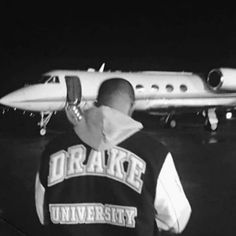
M 135 109 L 152 111 L 181 107 L 235 106 L 235 92 L 216 92 L 204 79 L 189 72 L 89 72 L 54 70 L 44 74 L 43 83 L 20 88 L 0 99 L 10 107 L 50 112 L 64 109 L 66 77 L 76 77 L 82 88 L 81 107 L 86 109 L 96 100 L 101 83 L 111 78 L 128 80 L 135 90 Z

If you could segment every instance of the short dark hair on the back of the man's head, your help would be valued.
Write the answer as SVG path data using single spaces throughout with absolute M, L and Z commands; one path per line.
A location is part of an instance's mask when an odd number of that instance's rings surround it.
M 122 78 L 111 78 L 100 85 L 97 103 L 98 105 L 109 105 L 116 98 L 121 98 L 124 95 L 129 97 L 131 104 L 134 103 L 135 94 L 131 83 Z

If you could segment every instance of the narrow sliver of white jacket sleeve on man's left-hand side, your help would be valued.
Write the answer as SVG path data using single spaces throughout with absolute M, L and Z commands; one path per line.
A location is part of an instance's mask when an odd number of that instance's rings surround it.
M 36 211 L 38 214 L 38 218 L 40 223 L 44 224 L 44 195 L 45 195 L 45 189 L 43 185 L 40 182 L 39 179 L 39 173 L 36 175 L 35 179 L 35 205 L 36 205 Z

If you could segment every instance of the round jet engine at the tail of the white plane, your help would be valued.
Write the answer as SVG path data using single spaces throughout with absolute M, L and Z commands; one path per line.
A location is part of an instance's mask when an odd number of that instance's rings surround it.
M 208 86 L 215 90 L 236 90 L 236 69 L 213 69 L 207 76 Z

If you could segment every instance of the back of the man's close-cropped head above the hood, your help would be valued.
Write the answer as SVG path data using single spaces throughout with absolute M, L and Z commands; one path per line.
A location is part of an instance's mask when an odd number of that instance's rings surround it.
M 135 95 L 132 85 L 125 79 L 112 78 L 101 84 L 98 91 L 97 105 L 109 106 L 131 116 L 134 100 Z

